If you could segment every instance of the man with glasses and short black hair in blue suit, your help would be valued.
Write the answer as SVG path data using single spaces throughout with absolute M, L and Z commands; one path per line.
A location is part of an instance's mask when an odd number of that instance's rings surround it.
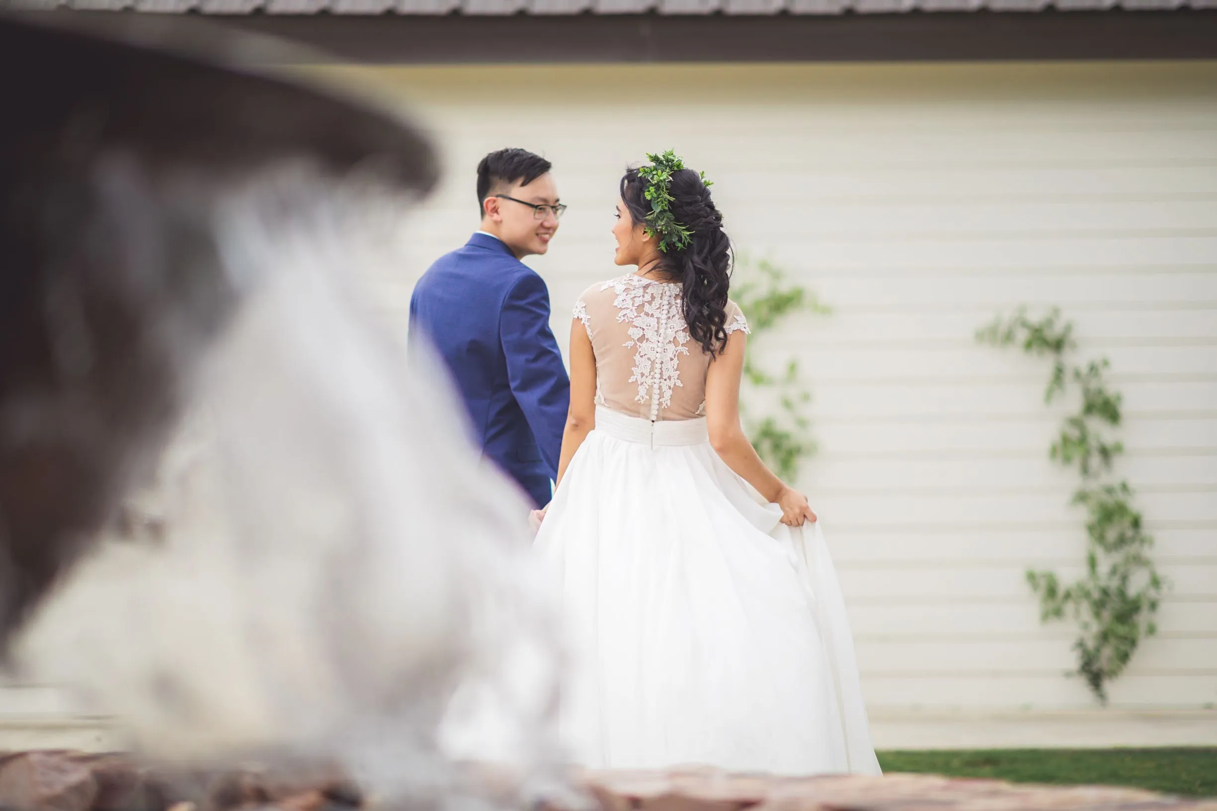
M 410 297 L 410 338 L 439 350 L 483 454 L 549 503 L 571 383 L 549 328 L 549 289 L 521 259 L 549 250 L 557 219 L 550 163 L 499 150 L 477 165 L 482 225 L 441 257 Z

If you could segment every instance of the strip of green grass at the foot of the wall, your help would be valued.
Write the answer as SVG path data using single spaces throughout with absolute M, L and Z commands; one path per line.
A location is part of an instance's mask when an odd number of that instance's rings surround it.
M 1183 796 L 1217 795 L 1217 748 L 881 751 L 879 762 L 885 772 L 989 777 L 1011 783 L 1131 785 Z

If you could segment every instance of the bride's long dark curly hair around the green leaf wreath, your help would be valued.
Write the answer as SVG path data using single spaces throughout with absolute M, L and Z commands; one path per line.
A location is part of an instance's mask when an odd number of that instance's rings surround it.
M 646 225 L 651 202 L 646 180 L 638 169 L 621 179 L 621 199 L 634 225 Z M 731 242 L 723 231 L 723 215 L 714 208 L 701 174 L 692 169 L 672 173 L 673 216 L 692 235 L 684 248 L 671 246 L 660 254 L 658 271 L 684 287 L 684 316 L 689 336 L 711 356 L 727 344 L 727 291 L 731 281 Z

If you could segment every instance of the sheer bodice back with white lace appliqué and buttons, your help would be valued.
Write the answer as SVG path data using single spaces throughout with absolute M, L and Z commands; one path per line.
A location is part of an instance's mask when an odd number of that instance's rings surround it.
M 689 336 L 680 285 L 629 274 L 588 288 L 574 303 L 596 356 L 596 405 L 645 419 L 705 413 L 710 355 Z M 748 331 L 734 302 L 727 332 Z

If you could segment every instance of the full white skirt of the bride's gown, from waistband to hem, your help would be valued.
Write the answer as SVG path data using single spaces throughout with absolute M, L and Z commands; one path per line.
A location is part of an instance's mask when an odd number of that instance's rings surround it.
M 598 411 L 535 541 L 577 644 L 577 762 L 879 773 L 819 524 L 780 518 L 705 421 Z

